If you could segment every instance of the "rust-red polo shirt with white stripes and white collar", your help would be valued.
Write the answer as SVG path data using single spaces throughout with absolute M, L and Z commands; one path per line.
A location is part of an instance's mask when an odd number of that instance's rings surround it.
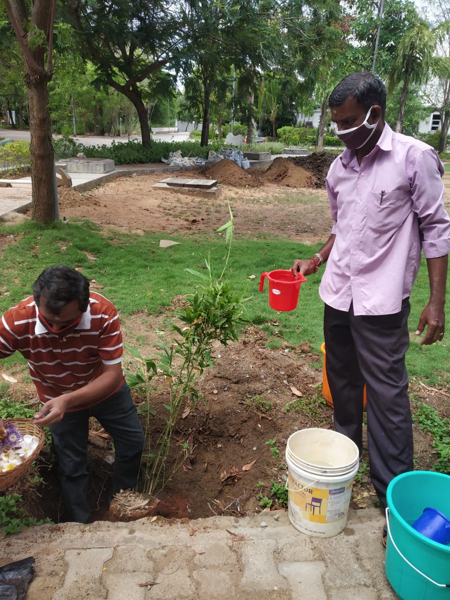
M 103 365 L 122 362 L 119 315 L 104 296 L 89 292 L 88 309 L 79 325 L 67 335 L 56 335 L 44 328 L 37 317 L 34 298 L 30 296 L 10 308 L 0 323 L 0 358 L 16 350 L 28 361 L 38 396 L 46 402 L 96 379 L 103 373 Z M 122 383 L 123 380 L 116 389 Z M 88 403 L 75 410 L 87 406 Z

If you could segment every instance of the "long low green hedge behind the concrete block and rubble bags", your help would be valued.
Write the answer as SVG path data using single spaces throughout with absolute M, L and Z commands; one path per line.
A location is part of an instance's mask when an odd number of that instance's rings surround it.
M 200 142 L 152 142 L 146 148 L 140 142 L 112 142 L 110 146 L 83 146 L 71 137 L 53 140 L 55 156 L 59 159 L 75 157 L 82 152 L 86 158 L 112 158 L 115 164 L 160 163 L 161 158 L 169 158 L 170 152 L 181 150 L 183 156 L 208 158 L 210 150 L 220 150 L 221 143 L 213 142 L 208 146 L 200 146 Z

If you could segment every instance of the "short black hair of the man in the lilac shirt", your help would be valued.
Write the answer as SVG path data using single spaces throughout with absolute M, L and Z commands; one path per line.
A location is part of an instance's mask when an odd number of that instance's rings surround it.
M 365 110 L 377 104 L 381 107 L 382 118 L 386 110 L 386 86 L 379 77 L 369 71 L 356 71 L 341 80 L 328 98 L 328 106 L 341 106 L 349 96 L 353 96 Z

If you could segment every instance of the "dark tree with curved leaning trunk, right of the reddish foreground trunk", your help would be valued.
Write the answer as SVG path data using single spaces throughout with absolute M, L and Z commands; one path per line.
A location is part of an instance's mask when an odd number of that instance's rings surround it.
M 181 0 L 64 0 L 98 78 L 136 108 L 142 144 L 151 145 L 145 81 L 174 67 L 188 35 Z

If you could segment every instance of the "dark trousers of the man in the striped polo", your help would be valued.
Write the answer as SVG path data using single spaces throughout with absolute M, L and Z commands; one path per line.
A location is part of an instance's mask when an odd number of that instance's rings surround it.
M 113 439 L 115 460 L 109 499 L 115 493 L 134 488 L 139 475 L 145 436 L 127 383 L 90 409 L 65 413 L 62 421 L 50 425 L 58 457 L 58 476 L 68 520 L 87 523 L 88 424 L 95 416 Z

